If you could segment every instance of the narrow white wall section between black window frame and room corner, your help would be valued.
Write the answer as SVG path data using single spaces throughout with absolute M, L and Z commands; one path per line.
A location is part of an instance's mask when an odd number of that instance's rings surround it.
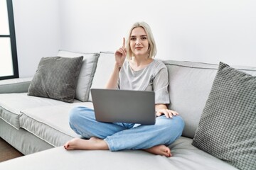
M 13 0 L 20 77 L 31 77 L 41 57 L 60 48 L 58 0 Z

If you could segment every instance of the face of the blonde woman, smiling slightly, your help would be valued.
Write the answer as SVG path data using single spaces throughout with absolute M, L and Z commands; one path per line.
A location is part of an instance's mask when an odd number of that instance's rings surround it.
M 149 50 L 149 40 L 144 28 L 137 27 L 132 30 L 129 44 L 134 57 L 147 57 Z

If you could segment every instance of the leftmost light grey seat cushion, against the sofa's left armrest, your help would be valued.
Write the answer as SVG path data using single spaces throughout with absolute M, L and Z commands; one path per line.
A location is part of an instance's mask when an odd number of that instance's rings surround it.
M 74 103 L 78 102 L 80 101 L 74 101 Z M 26 93 L 0 94 L 0 118 L 6 121 L 6 123 L 14 126 L 14 128 L 18 129 L 20 128 L 19 116 L 21 115 L 21 110 L 41 106 L 56 106 L 63 103 L 65 102 L 50 98 L 28 96 Z

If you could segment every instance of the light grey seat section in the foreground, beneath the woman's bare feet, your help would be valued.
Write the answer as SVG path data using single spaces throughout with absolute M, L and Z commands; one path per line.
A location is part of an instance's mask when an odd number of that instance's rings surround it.
M 0 164 L 0 169 L 198 169 L 238 170 L 220 159 L 191 145 L 192 140 L 181 137 L 171 145 L 173 157 L 166 158 L 142 150 L 110 151 L 66 151 L 63 147 L 48 149 L 26 157 L 20 157 Z M 100 162 L 100 164 L 99 164 Z M 87 168 L 86 168 L 87 167 Z

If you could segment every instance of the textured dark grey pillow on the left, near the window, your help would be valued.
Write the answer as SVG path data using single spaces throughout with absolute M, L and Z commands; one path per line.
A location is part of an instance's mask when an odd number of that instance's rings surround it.
M 82 58 L 43 57 L 28 88 L 28 95 L 73 103 Z

